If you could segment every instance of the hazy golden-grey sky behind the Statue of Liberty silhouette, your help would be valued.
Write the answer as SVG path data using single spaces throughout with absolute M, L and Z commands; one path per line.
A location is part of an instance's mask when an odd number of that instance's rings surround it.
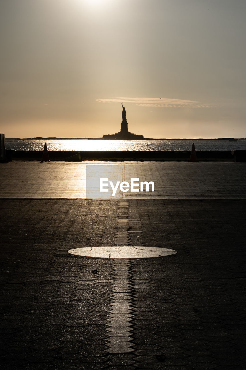
M 0 0 L 6 137 L 246 137 L 245 0 Z M 161 98 L 161 99 L 160 99 Z

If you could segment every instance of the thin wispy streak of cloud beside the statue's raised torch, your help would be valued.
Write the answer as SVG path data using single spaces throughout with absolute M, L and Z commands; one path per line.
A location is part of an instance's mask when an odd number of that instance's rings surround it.
M 202 104 L 195 100 L 182 100 L 182 99 L 170 99 L 170 98 L 106 98 L 96 99 L 99 103 L 134 103 L 139 107 L 167 107 L 167 108 L 207 108 L 210 105 Z

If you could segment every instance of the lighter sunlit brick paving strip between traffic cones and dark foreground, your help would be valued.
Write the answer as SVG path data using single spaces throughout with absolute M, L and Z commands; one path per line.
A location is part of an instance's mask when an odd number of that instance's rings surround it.
M 101 162 L 100 166 L 105 166 L 105 162 Z M 246 198 L 245 163 L 122 162 L 112 163 L 111 166 L 112 176 L 115 174 L 117 178 L 120 174 L 121 181 L 130 178 L 154 181 L 155 192 L 148 192 L 147 195 L 151 199 Z M 106 167 L 109 167 L 108 162 Z M 1 165 L 0 183 L 0 198 L 86 198 L 86 164 L 10 162 Z M 105 196 L 110 198 L 109 193 L 102 193 L 102 198 Z M 116 198 L 141 197 L 146 198 L 146 195 L 130 192 L 116 194 Z

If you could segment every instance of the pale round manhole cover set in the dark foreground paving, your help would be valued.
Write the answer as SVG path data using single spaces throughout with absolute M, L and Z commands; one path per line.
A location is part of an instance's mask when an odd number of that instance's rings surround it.
M 142 246 L 120 246 L 120 247 L 83 247 L 69 249 L 68 253 L 77 256 L 98 258 L 151 258 L 163 257 L 177 253 L 173 249 L 142 247 Z

